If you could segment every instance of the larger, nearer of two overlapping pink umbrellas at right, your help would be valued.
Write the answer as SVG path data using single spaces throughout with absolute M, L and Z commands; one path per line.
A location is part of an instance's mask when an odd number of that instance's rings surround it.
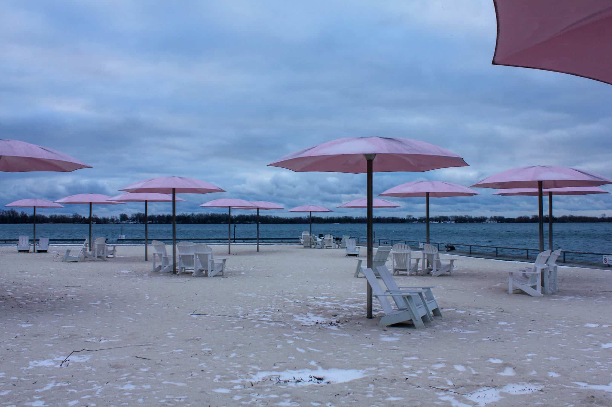
M 538 215 L 540 251 L 544 250 L 544 223 L 542 209 L 542 190 L 564 187 L 598 187 L 612 184 L 612 179 L 577 168 L 556 165 L 532 165 L 513 168 L 471 185 L 472 188 L 529 188 L 538 190 Z

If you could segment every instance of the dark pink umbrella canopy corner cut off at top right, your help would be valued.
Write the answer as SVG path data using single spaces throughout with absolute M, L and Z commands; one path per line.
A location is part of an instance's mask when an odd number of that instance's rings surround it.
M 493 0 L 493 65 L 536 68 L 612 84 L 610 0 Z

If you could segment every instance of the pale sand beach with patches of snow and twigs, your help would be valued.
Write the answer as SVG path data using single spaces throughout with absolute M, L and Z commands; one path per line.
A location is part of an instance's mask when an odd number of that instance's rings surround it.
M 51 250 L 0 248 L 1 406 L 612 405 L 605 270 L 532 298 L 506 291 L 522 264 L 458 257 L 397 278 L 437 286 L 441 319 L 383 329 L 340 249 L 235 245 L 214 278 L 152 273 L 143 247 Z

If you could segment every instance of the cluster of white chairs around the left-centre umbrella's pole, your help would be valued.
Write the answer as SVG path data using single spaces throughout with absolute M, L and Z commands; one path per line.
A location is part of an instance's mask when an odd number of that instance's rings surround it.
M 166 251 L 166 244 L 153 240 L 153 271 L 170 273 L 173 269 L 172 255 Z M 179 242 L 177 249 L 177 273 L 193 273 L 193 276 L 214 277 L 225 272 L 226 257 L 215 257 L 208 245 L 193 242 Z

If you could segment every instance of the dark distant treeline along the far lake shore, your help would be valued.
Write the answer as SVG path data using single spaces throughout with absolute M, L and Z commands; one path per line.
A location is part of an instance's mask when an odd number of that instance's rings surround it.
M 32 223 L 33 215 L 26 212 L 17 212 L 15 209 L 0 211 L 0 223 Z M 178 214 L 176 215 L 176 223 L 227 223 L 228 216 L 226 214 Z M 329 216 L 329 217 L 313 217 L 314 223 L 365 223 L 366 217 L 353 216 Z M 573 223 L 573 222 L 612 222 L 612 217 L 601 215 L 595 216 L 577 216 L 563 215 L 554 217 L 554 222 L 557 223 Z M 121 214 L 118 217 L 97 217 L 93 216 L 93 222 L 96 223 L 117 223 L 124 221 L 142 222 L 144 223 L 144 213 L 133 215 Z M 232 216 L 233 223 L 255 223 L 257 215 L 255 214 L 239 214 Z M 432 216 L 431 222 L 455 222 L 455 223 L 485 223 L 496 221 L 497 223 L 534 223 L 538 222 L 537 215 L 520 216 L 517 218 L 507 218 L 503 216 L 471 216 L 471 215 L 452 215 L 452 216 Z M 425 217 L 406 217 L 395 216 L 376 216 L 375 223 L 425 223 Z M 545 222 L 548 222 L 548 217 L 545 217 Z M 79 214 L 72 215 L 45 215 L 37 214 L 36 223 L 89 223 L 89 217 Z M 149 215 L 149 223 L 172 223 L 172 215 Z M 260 215 L 259 223 L 308 223 L 308 216 L 301 217 L 281 217 L 274 215 Z

